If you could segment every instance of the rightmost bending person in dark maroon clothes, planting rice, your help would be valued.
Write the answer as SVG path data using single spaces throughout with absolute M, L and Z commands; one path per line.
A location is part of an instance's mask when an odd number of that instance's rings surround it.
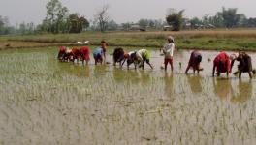
M 231 69 L 234 65 L 235 60 L 239 61 L 239 78 L 241 76 L 241 73 L 248 73 L 250 78 L 252 78 L 252 65 L 251 65 L 251 57 L 246 54 L 245 52 L 240 53 L 234 53 L 230 56 L 231 59 Z

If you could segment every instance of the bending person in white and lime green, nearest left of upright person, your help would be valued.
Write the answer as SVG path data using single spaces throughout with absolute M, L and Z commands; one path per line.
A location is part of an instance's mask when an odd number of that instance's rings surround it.
M 152 65 L 149 62 L 150 58 L 150 52 L 146 49 L 141 49 L 136 52 L 136 58 L 140 62 L 139 68 L 142 67 L 144 70 L 144 62 L 150 66 L 151 69 L 153 69 Z

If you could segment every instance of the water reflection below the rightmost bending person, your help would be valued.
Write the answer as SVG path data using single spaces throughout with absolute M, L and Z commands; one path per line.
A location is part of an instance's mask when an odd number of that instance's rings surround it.
M 231 102 L 246 102 L 252 96 L 252 83 L 239 80 L 239 93 L 232 96 Z

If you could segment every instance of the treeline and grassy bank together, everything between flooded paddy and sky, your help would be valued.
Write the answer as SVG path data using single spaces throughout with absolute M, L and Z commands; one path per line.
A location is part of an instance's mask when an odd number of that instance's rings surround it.
M 101 40 L 112 46 L 160 48 L 168 35 L 175 37 L 177 48 L 253 51 L 256 48 L 256 18 L 238 14 L 236 8 L 223 7 L 216 14 L 191 19 L 183 17 L 185 10 L 169 9 L 165 20 L 141 18 L 138 22 L 121 24 L 111 18 L 109 9 L 109 5 L 102 6 L 94 19 L 88 20 L 82 14 L 70 13 L 58 0 L 50 0 L 46 17 L 39 25 L 23 22 L 14 27 L 8 17 L 0 16 L 0 48 L 69 45 L 78 41 L 98 45 Z M 164 32 L 167 25 L 179 32 Z

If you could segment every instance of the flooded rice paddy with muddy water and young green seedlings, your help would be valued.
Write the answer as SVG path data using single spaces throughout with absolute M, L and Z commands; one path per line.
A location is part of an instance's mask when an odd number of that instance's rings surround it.
M 0 51 L 1 145 L 256 141 L 255 78 L 211 77 L 217 51 L 202 51 L 200 75 L 184 74 L 189 51 L 175 52 L 174 73 L 157 50 L 144 71 L 61 63 L 57 51 Z

